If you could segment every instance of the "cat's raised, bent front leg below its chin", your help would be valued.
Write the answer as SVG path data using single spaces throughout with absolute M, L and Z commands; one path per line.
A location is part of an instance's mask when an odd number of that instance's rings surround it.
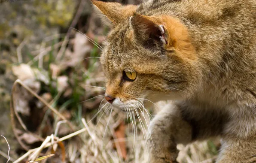
M 149 141 L 151 163 L 176 163 L 176 146 L 192 141 L 192 127 L 183 120 L 176 105 L 168 104 L 151 121 Z

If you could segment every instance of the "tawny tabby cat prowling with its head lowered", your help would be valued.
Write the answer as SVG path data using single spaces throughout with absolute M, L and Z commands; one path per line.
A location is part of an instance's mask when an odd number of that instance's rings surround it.
M 151 122 L 151 163 L 215 136 L 216 163 L 256 163 L 255 0 L 91 1 L 111 26 L 106 100 L 120 110 L 171 101 Z

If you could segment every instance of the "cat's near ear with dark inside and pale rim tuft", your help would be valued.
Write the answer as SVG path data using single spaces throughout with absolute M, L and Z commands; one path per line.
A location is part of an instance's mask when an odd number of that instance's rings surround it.
M 134 31 L 134 37 L 147 47 L 154 47 L 156 44 L 163 46 L 167 43 L 165 39 L 165 28 L 157 19 L 134 15 L 130 18 L 130 24 Z

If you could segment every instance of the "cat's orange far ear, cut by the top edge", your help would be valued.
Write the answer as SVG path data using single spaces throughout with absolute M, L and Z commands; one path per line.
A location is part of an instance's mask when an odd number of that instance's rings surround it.
M 137 9 L 135 5 L 122 5 L 116 2 L 102 2 L 91 0 L 96 10 L 100 13 L 104 23 L 108 25 L 119 24 L 125 19 L 129 19 Z

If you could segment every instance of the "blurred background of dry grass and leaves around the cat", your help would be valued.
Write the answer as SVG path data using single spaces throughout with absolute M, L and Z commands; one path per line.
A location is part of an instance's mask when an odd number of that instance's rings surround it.
M 0 0 L 1 163 L 149 162 L 145 134 L 164 103 L 140 117 L 105 105 L 99 57 L 109 30 L 90 0 Z M 179 145 L 178 160 L 213 163 L 218 147 L 218 140 Z

